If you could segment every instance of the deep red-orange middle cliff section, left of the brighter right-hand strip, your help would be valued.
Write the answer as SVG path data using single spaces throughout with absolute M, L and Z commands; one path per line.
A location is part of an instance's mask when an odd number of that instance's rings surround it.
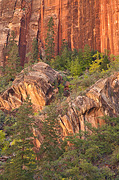
M 62 39 L 73 49 L 89 44 L 93 49 L 100 46 L 100 2 L 82 0 L 49 0 L 41 5 L 40 37 L 44 43 L 48 19 L 55 22 L 56 52 Z

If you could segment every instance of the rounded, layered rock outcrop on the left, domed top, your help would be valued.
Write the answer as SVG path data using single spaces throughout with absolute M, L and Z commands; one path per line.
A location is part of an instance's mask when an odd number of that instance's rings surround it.
M 53 97 L 53 83 L 57 77 L 60 78 L 59 73 L 43 62 L 26 68 L 0 96 L 0 109 L 16 109 L 29 95 L 34 110 L 41 110 Z

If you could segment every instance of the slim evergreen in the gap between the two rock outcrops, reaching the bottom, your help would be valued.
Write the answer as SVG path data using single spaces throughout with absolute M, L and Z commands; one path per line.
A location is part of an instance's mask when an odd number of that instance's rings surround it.
M 41 179 L 52 179 L 50 164 L 61 156 L 64 148 L 56 104 L 48 106 L 45 113 L 47 117 L 41 131 L 44 139 L 39 151 L 39 176 Z

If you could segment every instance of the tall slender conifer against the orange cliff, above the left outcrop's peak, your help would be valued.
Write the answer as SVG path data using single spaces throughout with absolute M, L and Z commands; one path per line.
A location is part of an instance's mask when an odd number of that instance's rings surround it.
M 47 37 L 45 39 L 46 61 L 50 62 L 54 57 L 54 21 L 51 17 L 47 25 Z

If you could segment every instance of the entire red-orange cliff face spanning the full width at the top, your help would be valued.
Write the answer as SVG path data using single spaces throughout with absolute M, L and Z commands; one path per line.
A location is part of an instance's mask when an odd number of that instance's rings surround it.
M 22 65 L 33 38 L 38 38 L 43 54 L 51 16 L 56 53 L 66 39 L 72 49 L 89 44 L 93 49 L 109 49 L 119 55 L 119 0 L 0 0 L 0 62 L 11 30 L 17 35 Z

